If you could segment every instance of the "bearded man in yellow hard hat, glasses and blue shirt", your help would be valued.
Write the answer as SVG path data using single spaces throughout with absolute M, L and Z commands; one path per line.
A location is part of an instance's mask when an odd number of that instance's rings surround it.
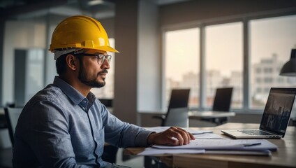
M 90 92 L 103 87 L 110 47 L 101 23 L 88 16 L 62 21 L 52 34 L 54 82 L 24 106 L 15 129 L 14 167 L 117 167 L 101 159 L 105 142 L 118 147 L 184 145 L 179 127 L 155 133 L 124 123 Z

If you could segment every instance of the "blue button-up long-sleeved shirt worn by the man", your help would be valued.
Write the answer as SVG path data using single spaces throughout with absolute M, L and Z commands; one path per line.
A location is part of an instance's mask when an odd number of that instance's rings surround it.
M 151 134 L 113 116 L 94 94 L 59 77 L 24 106 L 15 129 L 14 167 L 107 167 L 105 142 L 148 146 Z

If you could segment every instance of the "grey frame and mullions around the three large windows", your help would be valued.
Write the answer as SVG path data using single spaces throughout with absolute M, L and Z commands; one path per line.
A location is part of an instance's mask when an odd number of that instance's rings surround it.
M 197 20 L 194 22 L 187 22 L 177 25 L 170 25 L 161 28 L 162 34 L 162 108 L 165 109 L 165 32 L 166 31 L 174 31 L 179 29 L 190 29 L 194 27 L 198 27 L 200 29 L 200 106 L 190 107 L 192 110 L 209 110 L 206 107 L 206 67 L 205 67 L 205 27 L 211 25 L 221 25 L 227 24 L 232 22 L 242 22 L 242 33 L 243 33 L 243 102 L 241 109 L 231 109 L 231 111 L 237 113 L 262 113 L 262 109 L 251 109 L 251 62 L 250 62 L 250 55 L 249 55 L 249 38 L 250 38 L 250 28 L 249 22 L 251 20 L 259 20 L 265 18 L 276 18 L 281 16 L 289 16 L 289 15 L 296 15 L 296 10 L 276 10 L 276 11 L 268 11 L 268 12 L 260 12 L 260 13 L 249 13 L 245 15 L 236 15 L 236 16 L 229 16 L 229 17 L 221 17 L 221 18 L 212 18 L 207 20 Z M 262 72 L 262 69 L 261 69 Z M 262 92 L 264 89 L 262 89 Z

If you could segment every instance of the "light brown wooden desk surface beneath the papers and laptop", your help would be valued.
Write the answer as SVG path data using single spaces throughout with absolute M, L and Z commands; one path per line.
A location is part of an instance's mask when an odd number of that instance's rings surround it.
M 224 129 L 252 129 L 258 128 L 258 124 L 227 123 L 218 127 L 193 128 L 197 130 L 213 130 L 215 134 L 222 134 Z M 230 137 L 227 137 L 231 139 Z M 272 152 L 271 157 L 256 155 L 210 155 L 210 154 L 173 154 L 156 155 L 154 158 L 161 160 L 168 167 L 207 167 L 207 168 L 275 168 L 275 167 L 296 167 L 296 128 L 288 127 L 283 139 L 269 139 L 279 147 L 279 150 Z M 144 148 L 127 148 L 124 153 L 136 155 Z

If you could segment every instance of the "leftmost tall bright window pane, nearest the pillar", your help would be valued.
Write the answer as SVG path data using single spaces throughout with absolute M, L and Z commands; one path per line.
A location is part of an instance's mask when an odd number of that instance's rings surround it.
M 200 29 L 165 32 L 166 102 L 173 88 L 191 88 L 189 106 L 199 104 Z M 168 105 L 168 104 L 167 104 Z

